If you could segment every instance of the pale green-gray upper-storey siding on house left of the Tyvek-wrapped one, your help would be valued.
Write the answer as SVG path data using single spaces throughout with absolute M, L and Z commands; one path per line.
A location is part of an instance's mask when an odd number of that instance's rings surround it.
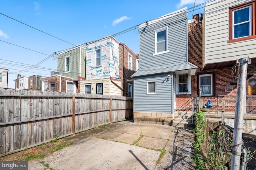
M 68 57 L 69 55 L 70 72 L 65 73 L 65 57 Z M 80 76 L 80 47 L 58 55 L 57 69 L 57 71 L 62 74 L 62 76 L 70 77 L 73 78 L 73 80 L 77 80 L 77 77 Z

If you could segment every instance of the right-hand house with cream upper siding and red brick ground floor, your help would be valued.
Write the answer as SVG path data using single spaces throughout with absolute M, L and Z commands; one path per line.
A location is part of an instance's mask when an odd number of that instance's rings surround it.
M 196 66 L 191 95 L 177 97 L 176 111 L 191 111 L 192 96 L 199 95 L 203 104 L 212 100 L 213 107 L 234 113 L 237 90 L 237 59 L 250 58 L 246 81 L 246 110 L 256 112 L 256 35 L 255 0 L 210 1 L 206 3 L 202 22 L 198 16 L 188 26 L 189 61 Z M 192 103 L 191 103 L 192 102 Z M 196 106 L 194 107 L 196 108 Z

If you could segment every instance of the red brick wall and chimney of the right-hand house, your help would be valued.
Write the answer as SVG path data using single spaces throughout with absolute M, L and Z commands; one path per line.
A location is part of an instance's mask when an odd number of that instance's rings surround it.
M 196 75 L 191 79 L 191 94 L 176 95 L 176 111 L 192 111 L 192 104 L 196 109 L 196 97 L 199 95 L 199 75 L 212 73 L 215 79 L 213 96 L 202 96 L 204 104 L 212 100 L 213 107 L 222 108 L 222 100 L 225 100 L 225 111 L 234 112 L 236 104 L 236 85 L 230 82 L 236 82 L 236 71 L 233 67 L 220 68 L 214 70 L 202 70 L 202 23 L 198 22 L 197 15 L 194 16 L 194 22 L 188 24 L 188 61 L 198 66 Z M 255 74 L 256 66 L 248 65 L 248 74 Z M 194 98 L 192 100 L 192 97 Z

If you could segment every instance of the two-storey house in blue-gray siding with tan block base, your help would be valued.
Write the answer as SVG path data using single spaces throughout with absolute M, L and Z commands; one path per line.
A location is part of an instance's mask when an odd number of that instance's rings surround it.
M 169 124 L 176 96 L 191 94 L 198 66 L 188 61 L 188 10 L 140 25 L 140 68 L 134 78 L 134 121 Z

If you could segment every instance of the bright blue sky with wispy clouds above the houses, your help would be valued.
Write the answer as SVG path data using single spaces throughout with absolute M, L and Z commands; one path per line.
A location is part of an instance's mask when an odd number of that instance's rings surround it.
M 14 88 L 18 73 L 49 76 L 51 71 L 56 71 L 57 60 L 49 57 L 54 52 L 114 35 L 184 7 L 188 8 L 190 20 L 192 14 L 204 12 L 203 6 L 196 6 L 193 12 L 194 3 L 204 2 L 206 0 L 1 0 L 0 68 L 9 70 L 8 87 Z M 139 53 L 137 29 L 114 38 Z

